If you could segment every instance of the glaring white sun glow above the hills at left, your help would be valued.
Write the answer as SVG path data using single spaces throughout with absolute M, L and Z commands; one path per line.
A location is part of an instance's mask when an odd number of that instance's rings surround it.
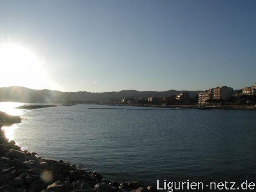
M 52 87 L 42 61 L 31 50 L 14 44 L 0 44 L 0 87 Z

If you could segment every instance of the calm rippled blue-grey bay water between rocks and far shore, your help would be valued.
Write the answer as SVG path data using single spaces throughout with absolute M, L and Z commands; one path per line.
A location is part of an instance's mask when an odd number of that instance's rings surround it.
M 9 138 L 112 181 L 256 179 L 255 111 L 82 104 L 13 110 L 17 105 L 0 104 L 0 111 L 27 118 L 6 128 Z

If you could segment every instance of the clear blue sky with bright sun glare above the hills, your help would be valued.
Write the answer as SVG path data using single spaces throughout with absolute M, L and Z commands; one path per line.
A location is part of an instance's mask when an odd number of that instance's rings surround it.
M 206 90 L 256 81 L 256 1 L 1 1 L 0 87 Z

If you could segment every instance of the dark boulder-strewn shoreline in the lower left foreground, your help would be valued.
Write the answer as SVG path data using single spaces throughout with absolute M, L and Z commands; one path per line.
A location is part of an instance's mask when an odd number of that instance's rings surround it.
M 2 112 L 3 113 L 3 112 Z M 6 116 L 7 114 L 5 114 Z M 13 123 L 17 116 L 13 118 Z M 1 119 L 0 119 L 1 121 Z M 8 141 L 0 124 L 0 192 L 141 192 L 157 191 L 153 186 L 139 182 L 110 182 L 97 172 L 77 167 L 62 160 L 37 157 L 36 153 L 22 151 L 14 141 Z

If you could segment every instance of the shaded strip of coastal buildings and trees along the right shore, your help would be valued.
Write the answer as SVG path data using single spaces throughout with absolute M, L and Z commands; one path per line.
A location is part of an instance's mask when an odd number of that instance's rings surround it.
M 102 103 L 103 104 L 103 103 Z M 190 97 L 188 92 L 168 97 L 130 98 L 110 100 L 108 104 L 115 105 L 140 105 L 140 106 L 171 106 L 171 105 L 255 105 L 256 82 L 251 87 L 233 90 L 228 86 L 219 86 L 200 92 L 196 97 Z

